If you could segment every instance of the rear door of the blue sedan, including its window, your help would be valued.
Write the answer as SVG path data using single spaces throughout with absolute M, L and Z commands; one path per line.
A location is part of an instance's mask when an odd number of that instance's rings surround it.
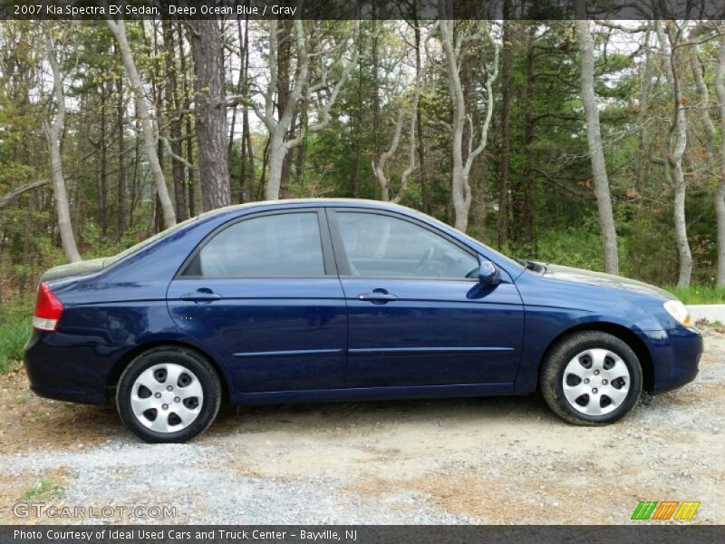
M 167 297 L 176 324 L 217 354 L 239 392 L 343 386 L 347 316 L 324 211 L 218 228 Z

